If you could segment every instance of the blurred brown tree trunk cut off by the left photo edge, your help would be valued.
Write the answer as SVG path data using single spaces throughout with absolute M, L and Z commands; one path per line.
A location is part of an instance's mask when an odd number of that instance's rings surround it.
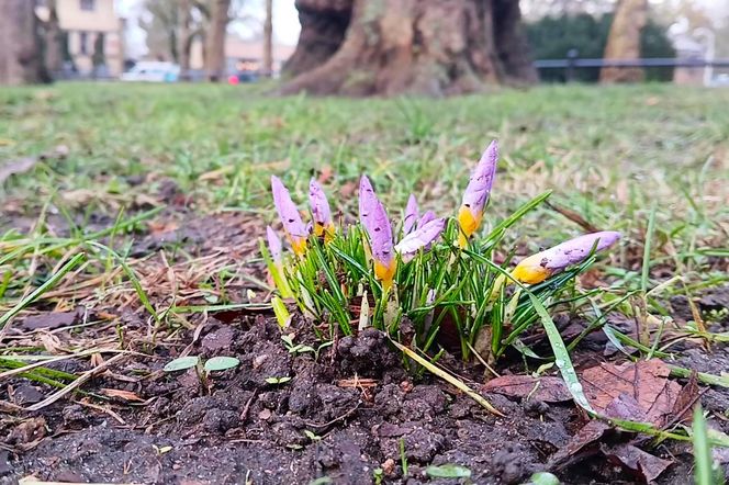
M 34 4 L 29 0 L 0 0 L 0 84 L 43 80 Z

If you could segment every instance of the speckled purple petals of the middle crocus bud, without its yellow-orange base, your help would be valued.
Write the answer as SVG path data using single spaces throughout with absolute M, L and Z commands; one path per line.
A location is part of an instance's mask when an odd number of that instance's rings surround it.
M 389 266 L 394 258 L 392 226 L 384 206 L 366 176 L 362 176 L 359 183 L 359 218 L 370 237 L 372 257 L 375 261 Z

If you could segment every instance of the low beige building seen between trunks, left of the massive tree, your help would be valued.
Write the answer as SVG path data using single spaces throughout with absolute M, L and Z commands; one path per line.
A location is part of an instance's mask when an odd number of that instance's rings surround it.
M 283 63 L 291 57 L 295 47 L 290 45 L 273 44 L 273 75 L 281 71 Z M 260 72 L 263 66 L 263 41 L 243 40 L 237 35 L 228 34 L 225 38 L 226 68 L 232 72 Z M 200 40 L 192 43 L 190 49 L 190 69 L 193 71 L 203 69 L 203 47 Z

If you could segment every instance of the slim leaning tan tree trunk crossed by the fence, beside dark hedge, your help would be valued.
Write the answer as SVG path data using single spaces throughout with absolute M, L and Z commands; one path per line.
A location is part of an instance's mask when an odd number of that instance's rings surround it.
M 605 46 L 605 59 L 640 58 L 640 32 L 648 21 L 648 0 L 619 0 Z M 601 82 L 640 82 L 641 68 L 604 67 Z

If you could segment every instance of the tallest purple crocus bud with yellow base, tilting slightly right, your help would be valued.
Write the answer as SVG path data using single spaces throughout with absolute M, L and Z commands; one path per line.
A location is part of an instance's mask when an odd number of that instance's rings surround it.
M 489 202 L 491 187 L 494 183 L 496 162 L 498 160 L 498 144 L 494 139 L 485 149 L 471 174 L 469 184 L 463 193 L 463 201 L 458 211 L 458 223 L 461 227 L 458 244 L 461 248 L 468 245 L 468 239 L 481 225 L 483 210 Z

